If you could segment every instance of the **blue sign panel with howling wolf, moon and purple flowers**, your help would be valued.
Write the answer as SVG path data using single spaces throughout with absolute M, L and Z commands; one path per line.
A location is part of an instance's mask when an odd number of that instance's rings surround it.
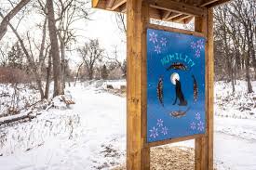
M 147 29 L 147 142 L 205 133 L 205 43 Z

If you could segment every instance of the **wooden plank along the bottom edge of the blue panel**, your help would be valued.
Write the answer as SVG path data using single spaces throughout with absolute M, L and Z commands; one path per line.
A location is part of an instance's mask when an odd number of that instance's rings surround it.
M 157 146 L 160 146 L 160 145 L 167 145 L 167 144 L 170 144 L 170 143 L 181 142 L 181 141 L 191 140 L 191 139 L 195 139 L 195 138 L 202 138 L 204 136 L 205 135 L 198 134 L 198 135 L 187 136 L 187 137 L 170 138 L 170 139 L 167 139 L 167 140 L 147 143 L 146 146 L 148 146 L 148 147 L 157 147 Z

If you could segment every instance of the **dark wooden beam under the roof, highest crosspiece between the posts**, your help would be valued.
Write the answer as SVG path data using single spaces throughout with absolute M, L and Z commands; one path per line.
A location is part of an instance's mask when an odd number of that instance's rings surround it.
M 155 7 L 162 10 L 182 13 L 193 16 L 205 16 L 206 10 L 204 7 L 189 6 L 184 3 L 175 2 L 171 0 L 157 0 L 156 2 L 149 2 L 150 7 Z

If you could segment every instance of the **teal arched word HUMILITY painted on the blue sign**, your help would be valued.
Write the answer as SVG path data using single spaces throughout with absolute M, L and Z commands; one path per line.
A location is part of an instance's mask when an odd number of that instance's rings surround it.
M 187 55 L 183 55 L 182 53 L 175 53 L 175 54 L 169 54 L 166 57 L 164 57 L 163 59 L 161 59 L 162 65 L 166 65 L 169 62 L 173 61 L 173 60 L 180 60 L 183 61 L 184 63 L 186 63 L 187 65 L 189 65 L 190 67 L 194 67 L 195 66 L 195 62 L 190 59 Z

